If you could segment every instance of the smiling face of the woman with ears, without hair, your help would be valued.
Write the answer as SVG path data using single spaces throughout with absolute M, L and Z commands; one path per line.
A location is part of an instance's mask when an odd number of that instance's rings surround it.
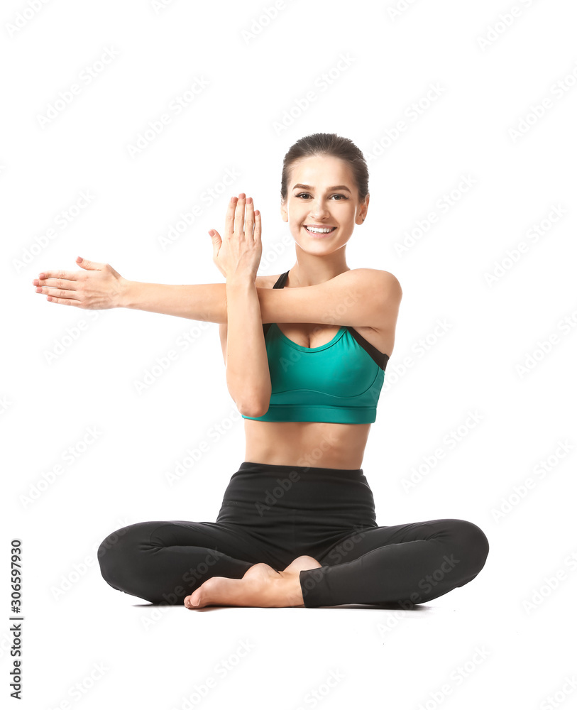
M 293 163 L 280 212 L 301 249 L 330 253 L 345 246 L 355 224 L 362 224 L 368 200 L 367 195 L 359 202 L 348 163 L 332 155 L 312 155 Z M 334 229 L 312 234 L 307 226 Z

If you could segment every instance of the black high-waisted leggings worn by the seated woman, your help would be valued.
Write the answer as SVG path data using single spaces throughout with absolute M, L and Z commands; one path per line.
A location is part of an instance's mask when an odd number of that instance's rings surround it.
M 378 527 L 363 469 L 243 461 L 224 492 L 216 523 L 135 523 L 98 550 L 114 589 L 180 604 L 210 577 L 241 579 L 257 562 L 277 571 L 310 555 L 300 572 L 304 606 L 436 599 L 474 579 L 489 552 L 477 525 L 447 518 Z

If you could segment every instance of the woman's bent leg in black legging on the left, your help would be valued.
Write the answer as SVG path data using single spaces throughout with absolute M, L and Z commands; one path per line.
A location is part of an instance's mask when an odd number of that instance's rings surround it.
M 203 581 L 241 579 L 262 559 L 246 536 L 216 523 L 135 523 L 108 535 L 98 550 L 102 577 L 126 594 L 182 604 Z

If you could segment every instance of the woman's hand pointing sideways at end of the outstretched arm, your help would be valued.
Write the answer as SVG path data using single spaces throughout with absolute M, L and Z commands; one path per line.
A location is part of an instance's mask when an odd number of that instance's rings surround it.
M 78 308 L 104 309 L 121 305 L 125 278 L 110 264 L 88 261 L 78 256 L 78 266 L 87 271 L 43 271 L 33 280 L 36 293 L 46 300 Z

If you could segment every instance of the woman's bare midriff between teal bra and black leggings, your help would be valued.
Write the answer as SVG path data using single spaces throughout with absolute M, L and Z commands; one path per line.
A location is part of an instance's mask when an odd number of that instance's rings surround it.
M 370 424 L 244 420 L 245 461 L 361 469 Z

